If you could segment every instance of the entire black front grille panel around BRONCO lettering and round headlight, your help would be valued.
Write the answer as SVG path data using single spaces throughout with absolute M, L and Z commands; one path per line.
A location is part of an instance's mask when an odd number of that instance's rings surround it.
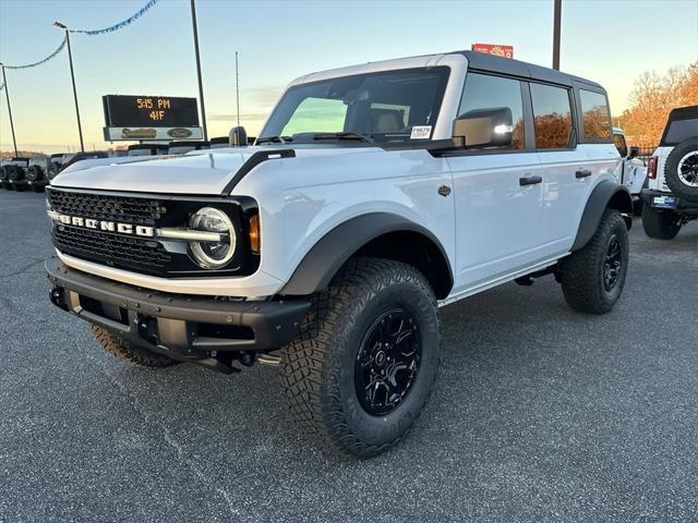
M 50 210 L 61 217 L 52 223 L 53 244 L 69 256 L 167 278 L 248 276 L 260 266 L 260 256 L 251 254 L 245 243 L 246 221 L 257 212 L 256 203 L 251 198 L 182 196 L 173 199 L 166 195 L 76 192 L 59 187 L 48 187 L 47 193 Z M 190 217 L 205 206 L 226 212 L 238 233 L 239 248 L 230 264 L 218 270 L 204 270 L 196 265 L 183 242 L 113 232 L 105 230 L 104 224 L 95 229 L 61 221 L 67 216 L 82 218 L 85 223 L 98 220 L 155 230 L 183 228 Z

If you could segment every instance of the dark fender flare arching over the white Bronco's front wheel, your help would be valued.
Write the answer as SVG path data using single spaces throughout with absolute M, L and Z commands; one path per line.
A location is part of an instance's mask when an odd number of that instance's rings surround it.
M 448 295 L 454 284 L 448 255 L 431 231 L 401 216 L 371 212 L 351 218 L 325 234 L 305 254 L 279 293 L 318 292 L 353 256 L 382 257 L 416 267 L 440 300 Z

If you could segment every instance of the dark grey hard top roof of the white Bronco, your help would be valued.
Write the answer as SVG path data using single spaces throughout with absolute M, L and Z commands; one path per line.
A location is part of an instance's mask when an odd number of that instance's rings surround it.
M 595 82 L 580 78 L 579 76 L 575 76 L 573 74 L 561 73 L 559 71 L 555 71 L 554 69 L 543 68 L 541 65 L 521 62 L 519 60 L 513 60 L 510 58 L 497 57 L 496 54 L 488 54 L 485 52 L 456 52 L 465 56 L 468 59 L 468 69 L 509 74 L 513 76 L 520 76 L 522 78 L 529 80 L 539 80 L 541 82 L 550 82 L 568 87 L 570 87 L 573 85 L 573 82 L 575 82 L 579 84 L 586 84 L 590 87 L 594 87 L 597 90 L 603 90 L 605 93 L 605 89 Z

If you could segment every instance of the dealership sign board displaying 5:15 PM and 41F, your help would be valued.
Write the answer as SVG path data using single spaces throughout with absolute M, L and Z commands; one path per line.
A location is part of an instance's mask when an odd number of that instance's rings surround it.
M 196 98 L 106 95 L 101 104 L 107 142 L 203 138 Z

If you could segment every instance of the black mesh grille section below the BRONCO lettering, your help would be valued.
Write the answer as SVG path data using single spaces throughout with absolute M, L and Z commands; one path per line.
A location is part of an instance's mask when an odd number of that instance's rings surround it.
M 160 273 L 172 259 L 154 241 L 70 226 L 56 227 L 53 242 L 65 254 L 153 275 Z

